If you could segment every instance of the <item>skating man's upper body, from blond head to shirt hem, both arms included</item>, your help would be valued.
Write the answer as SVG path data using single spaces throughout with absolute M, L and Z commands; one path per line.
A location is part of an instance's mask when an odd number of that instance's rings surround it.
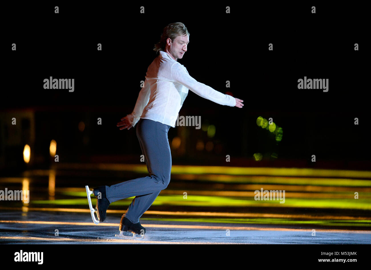
M 139 118 L 160 121 L 175 127 L 188 89 L 215 103 L 242 108 L 243 100 L 224 95 L 197 82 L 188 74 L 187 69 L 177 62 L 187 52 L 188 43 L 189 32 L 183 23 L 171 23 L 164 28 L 161 40 L 154 48 L 160 55 L 148 67 L 144 87 L 139 92 L 134 111 L 118 123 L 118 126 L 122 126 L 120 130 L 131 129 Z M 163 109 L 165 113 L 161 112 Z

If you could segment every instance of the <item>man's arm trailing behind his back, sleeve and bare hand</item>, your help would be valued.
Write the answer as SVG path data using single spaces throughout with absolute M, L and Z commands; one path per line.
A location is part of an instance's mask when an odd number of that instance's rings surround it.
M 121 118 L 121 122 L 117 123 L 117 126 L 122 129 L 131 129 L 134 127 L 143 113 L 144 107 L 148 104 L 150 100 L 150 83 L 147 81 L 147 78 L 144 81 L 142 89 L 139 91 L 137 102 L 135 103 L 134 110 L 131 114 Z

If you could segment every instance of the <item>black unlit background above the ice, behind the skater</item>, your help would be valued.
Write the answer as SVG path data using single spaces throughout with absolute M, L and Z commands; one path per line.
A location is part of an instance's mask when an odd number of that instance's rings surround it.
M 190 90 L 179 115 L 201 116 L 201 123 L 216 126 L 216 134 L 210 139 L 194 127 L 171 128 L 170 145 L 181 132 L 187 138 L 185 152 L 172 149 L 173 164 L 369 169 L 366 11 L 361 5 L 314 2 L 4 6 L 9 19 L 1 43 L 0 167 L 22 169 L 27 133 L 19 145 L 6 145 L 12 136 L 8 115 L 20 111 L 35 116 L 33 153 L 42 158 L 34 166 L 48 165 L 52 139 L 60 162 L 139 163 L 135 127 L 119 130 L 116 123 L 134 108 L 140 81 L 158 55 L 152 49 L 162 29 L 183 22 L 190 43 L 179 62 L 197 81 L 244 100 L 244 107 L 219 105 Z M 75 91 L 43 89 L 50 76 L 74 78 Z M 329 91 L 299 90 L 297 81 L 304 76 L 328 78 Z M 257 126 L 259 116 L 282 127 L 282 141 Z M 18 123 L 23 131 L 29 128 L 27 120 Z M 197 151 L 197 140 L 220 147 Z M 254 153 L 262 153 L 263 160 L 255 161 Z

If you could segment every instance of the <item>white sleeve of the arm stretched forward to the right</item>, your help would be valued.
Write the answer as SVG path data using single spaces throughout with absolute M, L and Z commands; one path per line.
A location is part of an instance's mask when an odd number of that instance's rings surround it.
M 210 86 L 207 86 L 206 84 L 196 81 L 179 63 L 174 63 L 174 65 L 171 67 L 171 77 L 173 81 L 184 85 L 200 97 L 206 98 L 220 105 L 228 105 L 231 107 L 236 106 L 236 100 L 234 97 L 223 94 L 214 90 Z

